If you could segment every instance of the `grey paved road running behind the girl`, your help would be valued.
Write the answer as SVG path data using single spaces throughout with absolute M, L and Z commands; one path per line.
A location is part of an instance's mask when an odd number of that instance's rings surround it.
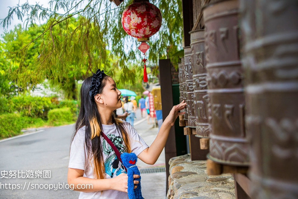
M 139 121 L 140 112 L 137 117 Z M 147 124 L 147 121 L 135 126 L 145 142 L 150 145 L 157 135 L 157 128 Z M 20 138 L 0 142 L 0 171 L 16 171 L 16 178 L 0 178 L 0 185 L 3 183 L 19 184 L 21 189 L 12 190 L 0 189 L 0 198 L 7 199 L 35 199 L 35 198 L 78 198 L 80 192 L 69 189 L 31 189 L 33 184 L 55 184 L 64 185 L 67 183 L 67 170 L 69 163 L 70 138 L 73 132 L 73 125 L 45 128 L 44 132 L 27 135 Z M 162 153 L 157 165 L 164 164 L 164 153 Z M 141 161 L 139 167 L 149 166 Z M 21 178 L 21 172 L 27 170 L 50 170 L 51 178 Z M 18 172 L 19 176 L 18 176 Z M 0 175 L 0 177 L 2 177 Z M 5 177 L 10 177 L 5 175 Z M 18 178 L 20 177 L 20 178 Z M 23 173 L 23 177 L 25 174 Z M 155 181 L 153 181 L 154 179 Z M 143 174 L 142 190 L 146 199 L 165 198 L 165 173 Z M 26 186 L 25 186 L 26 183 Z M 30 186 L 28 188 L 28 185 Z M 62 186 L 60 186 L 62 187 Z M 7 188 L 9 186 L 7 185 Z M 23 189 L 24 188 L 24 189 Z

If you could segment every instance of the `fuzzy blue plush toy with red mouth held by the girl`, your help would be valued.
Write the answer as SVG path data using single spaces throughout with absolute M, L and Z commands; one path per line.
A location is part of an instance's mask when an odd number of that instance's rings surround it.
M 136 166 L 136 161 L 138 161 L 138 157 L 134 153 L 122 153 L 121 159 L 123 165 L 127 169 L 128 181 L 127 181 L 127 192 L 129 199 L 144 199 L 141 191 L 141 176 L 139 178 L 134 178 L 135 175 L 140 175 L 140 171 Z M 134 180 L 139 181 L 137 184 L 137 188 L 134 189 Z

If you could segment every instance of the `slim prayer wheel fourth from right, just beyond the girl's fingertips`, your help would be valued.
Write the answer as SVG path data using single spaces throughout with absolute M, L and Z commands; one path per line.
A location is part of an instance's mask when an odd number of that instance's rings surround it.
M 191 65 L 191 47 L 184 47 L 186 107 L 188 127 L 195 128 L 195 93 L 193 92 L 193 68 Z

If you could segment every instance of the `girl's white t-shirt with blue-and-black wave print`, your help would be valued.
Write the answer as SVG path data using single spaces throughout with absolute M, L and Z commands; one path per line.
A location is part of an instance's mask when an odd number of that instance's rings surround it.
M 134 127 L 131 126 L 128 122 L 123 121 L 125 127 L 128 129 L 128 135 L 130 138 L 131 151 L 134 152 L 137 156 L 149 146 L 145 141 L 139 136 Z M 119 149 L 120 154 L 124 152 L 124 141 L 122 136 L 120 137 L 119 132 L 116 129 L 115 124 L 105 125 L 103 124 L 103 132 L 107 137 L 115 144 Z M 103 159 L 105 164 L 105 173 L 106 178 L 113 178 L 124 173 L 124 167 L 121 162 L 119 162 L 111 146 L 101 137 L 101 143 L 103 147 Z M 80 128 L 77 131 L 77 134 L 74 137 L 74 140 L 71 144 L 70 157 L 69 157 L 69 168 L 82 169 L 84 170 L 83 177 L 93 178 L 93 158 L 91 157 L 91 162 L 87 157 L 87 149 L 85 144 L 85 126 Z M 118 163 L 118 167 L 116 166 Z M 117 168 L 113 168 L 117 167 Z M 126 192 L 119 192 L 116 190 L 105 190 L 101 195 L 101 191 L 97 192 L 80 192 L 79 199 L 127 199 L 128 195 Z

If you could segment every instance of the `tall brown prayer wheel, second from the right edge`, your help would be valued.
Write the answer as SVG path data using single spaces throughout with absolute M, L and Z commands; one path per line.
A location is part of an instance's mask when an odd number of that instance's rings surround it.
M 238 0 L 217 1 L 203 7 L 209 122 L 212 128 L 207 157 L 217 163 L 248 166 L 238 7 Z

